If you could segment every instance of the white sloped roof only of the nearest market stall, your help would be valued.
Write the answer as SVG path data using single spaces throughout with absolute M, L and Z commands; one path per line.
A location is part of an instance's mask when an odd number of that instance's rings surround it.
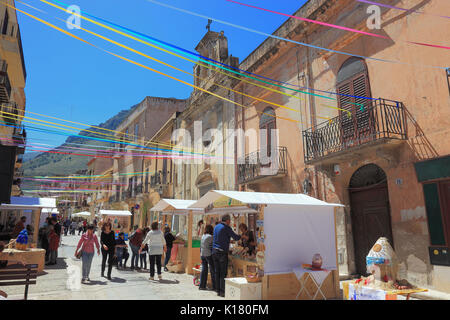
M 236 206 L 237 208 L 248 204 L 343 207 L 341 204 L 328 203 L 301 193 L 266 193 L 224 190 L 211 190 L 190 207 L 205 209 L 218 201 L 221 203 L 223 202 L 223 207 L 230 207 L 231 205 Z M 218 207 L 219 206 L 214 206 L 214 208 Z

